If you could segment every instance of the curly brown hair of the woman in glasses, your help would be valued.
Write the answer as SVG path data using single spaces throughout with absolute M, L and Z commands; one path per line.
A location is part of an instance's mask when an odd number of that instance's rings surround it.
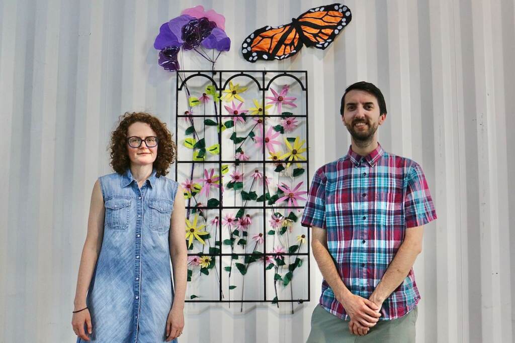
M 114 171 L 123 174 L 130 167 L 130 159 L 127 153 L 127 131 L 129 126 L 135 122 L 144 122 L 150 125 L 158 135 L 158 155 L 153 163 L 156 169 L 156 176 L 168 174 L 168 168 L 175 161 L 177 146 L 171 139 L 171 133 L 166 124 L 158 118 L 145 112 L 126 112 L 119 117 L 116 130 L 111 133 L 111 163 Z

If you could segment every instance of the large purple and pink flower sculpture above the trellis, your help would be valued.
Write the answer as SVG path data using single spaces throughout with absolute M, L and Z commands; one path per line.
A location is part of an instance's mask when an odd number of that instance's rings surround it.
M 229 51 L 231 40 L 224 31 L 225 18 L 213 10 L 204 11 L 202 6 L 189 8 L 182 14 L 161 25 L 154 41 L 154 48 L 160 50 L 159 65 L 166 70 L 179 70 L 177 55 L 180 48 L 195 50 L 214 63 L 211 58 L 195 49 L 199 45 L 206 49 Z

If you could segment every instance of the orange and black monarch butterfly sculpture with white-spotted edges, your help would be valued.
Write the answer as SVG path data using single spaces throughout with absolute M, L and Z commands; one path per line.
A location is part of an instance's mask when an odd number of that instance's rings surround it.
M 294 56 L 303 45 L 323 50 L 351 19 L 351 11 L 342 4 L 312 8 L 289 24 L 252 32 L 242 43 L 243 57 L 249 62 L 282 60 Z

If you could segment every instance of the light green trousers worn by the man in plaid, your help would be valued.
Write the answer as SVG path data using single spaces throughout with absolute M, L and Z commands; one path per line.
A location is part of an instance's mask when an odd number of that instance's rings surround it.
M 326 311 L 320 304 L 311 316 L 311 332 L 307 343 L 415 343 L 417 307 L 404 317 L 380 320 L 365 336 L 350 332 L 349 321 Z

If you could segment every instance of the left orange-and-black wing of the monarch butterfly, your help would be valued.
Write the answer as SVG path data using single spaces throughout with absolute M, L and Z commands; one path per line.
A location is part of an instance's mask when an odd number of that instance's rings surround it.
M 297 28 L 287 24 L 255 30 L 243 41 L 242 52 L 249 62 L 258 59 L 280 60 L 295 55 L 301 47 L 302 40 Z

